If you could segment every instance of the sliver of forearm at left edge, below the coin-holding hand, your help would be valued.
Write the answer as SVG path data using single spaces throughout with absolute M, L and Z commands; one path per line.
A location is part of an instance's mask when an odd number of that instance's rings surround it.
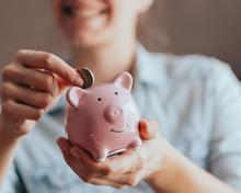
M 18 147 L 18 138 L 9 137 L 0 127 L 0 186 L 13 160 L 15 149 Z

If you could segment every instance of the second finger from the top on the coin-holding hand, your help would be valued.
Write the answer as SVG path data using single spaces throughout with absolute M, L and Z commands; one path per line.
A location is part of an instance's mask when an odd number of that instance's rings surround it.
M 51 93 L 57 92 L 57 81 L 55 77 L 46 71 L 25 68 L 20 65 L 9 65 L 2 71 L 4 81 L 15 82 L 16 84 L 28 86 L 39 91 Z

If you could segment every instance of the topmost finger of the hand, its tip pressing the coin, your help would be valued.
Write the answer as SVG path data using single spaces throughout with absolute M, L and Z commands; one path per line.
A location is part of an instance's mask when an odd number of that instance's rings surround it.
M 15 57 L 16 61 L 23 64 L 25 67 L 48 70 L 73 86 L 82 87 L 83 84 L 83 80 L 79 73 L 56 55 L 22 49 L 16 53 Z

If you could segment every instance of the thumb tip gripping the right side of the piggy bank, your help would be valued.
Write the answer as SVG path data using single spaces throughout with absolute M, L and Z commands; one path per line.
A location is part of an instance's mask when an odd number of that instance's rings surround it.
M 139 122 L 139 133 L 144 140 L 149 140 L 159 136 L 158 123 L 152 120 L 141 120 Z

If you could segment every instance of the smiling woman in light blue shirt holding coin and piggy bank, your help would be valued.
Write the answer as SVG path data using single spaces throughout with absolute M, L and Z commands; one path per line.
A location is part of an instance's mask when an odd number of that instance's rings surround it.
M 4 67 L 2 192 L 234 193 L 241 189 L 240 84 L 216 59 L 150 54 L 138 45 L 137 21 L 151 3 L 53 0 L 71 47 L 72 66 L 49 53 L 20 50 L 15 61 Z M 139 150 L 94 162 L 60 137 L 65 133 L 61 95 L 66 84 L 82 86 L 73 68 L 83 64 L 94 72 L 96 84 L 124 70 L 134 75 L 133 94 L 142 117 L 156 120 L 140 122 Z

